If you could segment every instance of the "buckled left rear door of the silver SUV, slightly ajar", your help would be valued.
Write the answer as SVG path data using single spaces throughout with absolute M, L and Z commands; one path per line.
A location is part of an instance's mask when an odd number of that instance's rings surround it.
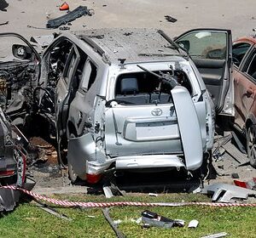
M 80 54 L 78 48 L 73 45 L 71 49 L 66 65 L 64 67 L 63 74 L 56 86 L 55 94 L 55 122 L 57 127 L 58 136 L 62 136 L 66 133 L 67 127 L 67 115 L 69 108 L 69 97 L 73 88 L 72 82 L 77 66 L 79 65 Z

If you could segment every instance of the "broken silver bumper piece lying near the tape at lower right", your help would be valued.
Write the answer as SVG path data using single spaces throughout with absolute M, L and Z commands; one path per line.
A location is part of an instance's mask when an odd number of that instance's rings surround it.
M 256 196 L 256 191 L 247 190 L 231 184 L 212 184 L 202 190 L 203 194 L 213 194 L 212 201 L 234 202 L 234 199 L 247 199 L 249 195 Z

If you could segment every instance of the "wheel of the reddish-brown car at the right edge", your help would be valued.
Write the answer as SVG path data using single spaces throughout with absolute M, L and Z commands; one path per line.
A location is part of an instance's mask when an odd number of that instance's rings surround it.
M 252 167 L 256 168 L 256 127 L 251 124 L 247 127 L 247 156 Z

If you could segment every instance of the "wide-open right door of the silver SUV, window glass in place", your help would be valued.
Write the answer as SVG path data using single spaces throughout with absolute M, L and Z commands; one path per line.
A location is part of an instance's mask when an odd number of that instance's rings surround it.
M 218 114 L 234 116 L 230 30 L 195 29 L 175 39 L 195 63 Z

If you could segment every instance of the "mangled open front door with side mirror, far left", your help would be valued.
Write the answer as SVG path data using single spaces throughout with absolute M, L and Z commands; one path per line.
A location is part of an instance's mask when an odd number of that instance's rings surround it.
M 40 77 L 41 59 L 32 44 L 16 33 L 0 33 L 0 106 L 12 120 L 26 116 Z

